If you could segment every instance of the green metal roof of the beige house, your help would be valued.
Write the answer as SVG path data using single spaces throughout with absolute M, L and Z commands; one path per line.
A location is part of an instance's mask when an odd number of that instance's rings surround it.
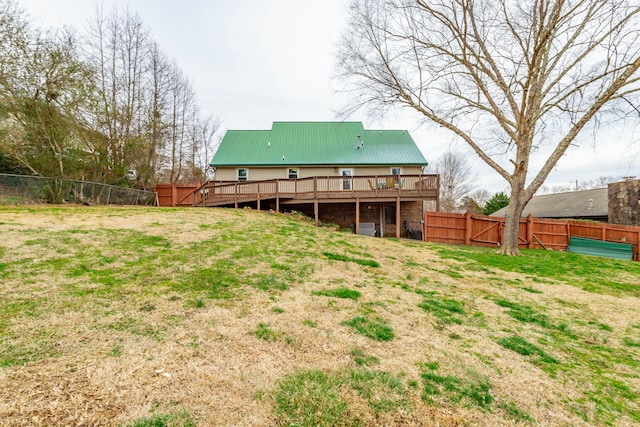
M 212 166 L 407 165 L 427 161 L 406 130 L 362 122 L 274 122 L 271 130 L 228 130 Z

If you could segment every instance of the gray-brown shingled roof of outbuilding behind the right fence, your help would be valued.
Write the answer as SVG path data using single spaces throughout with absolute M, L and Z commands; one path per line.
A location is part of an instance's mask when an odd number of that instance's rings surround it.
M 504 217 L 507 208 L 491 216 Z M 536 218 L 589 218 L 609 215 L 609 199 L 606 188 L 572 191 L 569 193 L 534 196 L 522 211 L 522 216 Z

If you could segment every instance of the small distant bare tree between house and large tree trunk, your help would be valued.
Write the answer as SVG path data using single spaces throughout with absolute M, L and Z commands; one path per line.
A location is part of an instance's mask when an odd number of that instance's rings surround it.
M 444 153 L 438 159 L 436 173 L 440 175 L 440 210 L 453 212 L 462 198 L 473 190 L 476 175 L 464 154 L 454 151 Z

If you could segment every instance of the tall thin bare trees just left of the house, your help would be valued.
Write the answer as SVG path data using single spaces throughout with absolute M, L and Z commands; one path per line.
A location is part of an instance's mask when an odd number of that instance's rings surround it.
M 128 10 L 98 10 L 87 39 L 100 88 L 94 129 L 104 136 L 96 151 L 105 159 L 107 179 L 122 181 L 129 170 L 144 188 L 158 178 L 202 179 L 200 152 L 209 141 L 201 127 L 208 119 L 191 82 L 142 20 Z

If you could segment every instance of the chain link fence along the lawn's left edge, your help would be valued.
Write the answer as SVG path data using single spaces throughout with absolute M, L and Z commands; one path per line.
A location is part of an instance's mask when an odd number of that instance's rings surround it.
M 0 203 L 83 203 L 156 206 L 153 191 L 73 179 L 0 174 Z

